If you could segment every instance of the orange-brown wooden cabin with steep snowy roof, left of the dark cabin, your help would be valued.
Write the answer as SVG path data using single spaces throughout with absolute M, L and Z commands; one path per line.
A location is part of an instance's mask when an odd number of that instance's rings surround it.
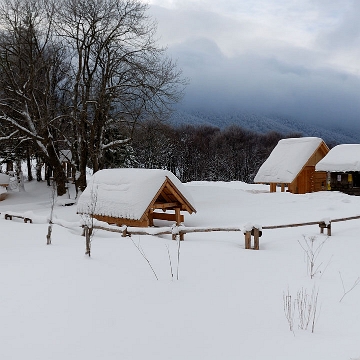
M 254 178 L 255 183 L 270 184 L 270 192 L 305 194 L 326 189 L 326 172 L 315 172 L 315 165 L 329 152 L 317 137 L 289 138 L 278 142 Z

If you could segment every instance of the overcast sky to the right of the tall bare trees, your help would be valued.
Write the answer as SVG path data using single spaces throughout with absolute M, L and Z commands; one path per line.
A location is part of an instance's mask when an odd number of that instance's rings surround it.
M 359 0 L 150 0 L 182 106 L 360 128 Z

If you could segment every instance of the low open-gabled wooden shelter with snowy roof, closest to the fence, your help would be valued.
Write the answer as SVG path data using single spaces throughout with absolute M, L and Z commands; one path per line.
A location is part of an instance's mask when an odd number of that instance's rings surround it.
M 181 212 L 196 212 L 192 203 L 185 186 L 170 171 L 106 169 L 93 175 L 77 212 L 119 226 L 148 227 L 155 219 L 180 225 Z

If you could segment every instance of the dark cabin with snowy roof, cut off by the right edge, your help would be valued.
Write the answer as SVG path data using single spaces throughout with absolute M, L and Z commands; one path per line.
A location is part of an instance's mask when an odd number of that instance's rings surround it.
M 360 195 L 360 144 L 335 146 L 315 170 L 327 172 L 327 190 Z

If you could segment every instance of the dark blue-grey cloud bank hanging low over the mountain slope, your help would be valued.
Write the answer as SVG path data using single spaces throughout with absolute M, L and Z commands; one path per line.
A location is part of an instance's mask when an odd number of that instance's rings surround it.
M 190 78 L 182 107 L 277 113 L 317 124 L 340 122 L 360 129 L 358 78 L 259 55 L 229 59 L 209 42 L 198 40 L 188 47 L 182 44 L 170 49 Z

